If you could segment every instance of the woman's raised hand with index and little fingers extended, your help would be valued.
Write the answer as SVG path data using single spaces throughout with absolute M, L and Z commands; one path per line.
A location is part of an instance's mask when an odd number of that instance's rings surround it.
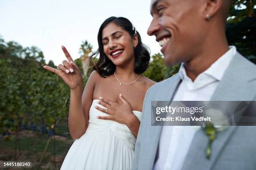
M 70 87 L 70 89 L 75 89 L 79 86 L 83 86 L 83 78 L 79 68 L 77 67 L 72 57 L 69 55 L 66 47 L 62 45 L 61 48 L 65 56 L 67 57 L 67 60 L 63 60 L 63 65 L 58 65 L 59 70 L 49 67 L 47 65 L 45 65 L 44 68 L 59 75 L 59 77 L 61 77 L 64 82 L 66 82 L 66 84 Z

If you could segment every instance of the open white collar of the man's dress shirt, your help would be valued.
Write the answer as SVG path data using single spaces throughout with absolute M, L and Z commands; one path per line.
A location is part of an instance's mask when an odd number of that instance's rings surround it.
M 229 50 L 223 54 L 218 60 L 216 60 L 207 70 L 202 72 L 201 74 L 207 74 L 214 77 L 217 80 L 221 80 L 224 75 L 225 70 L 228 68 L 230 61 L 233 59 L 233 56 L 236 54 L 236 47 L 229 46 Z M 200 74 L 200 75 L 201 75 Z M 184 67 L 184 62 L 182 62 L 179 68 L 179 76 L 181 79 L 187 77 L 187 73 Z

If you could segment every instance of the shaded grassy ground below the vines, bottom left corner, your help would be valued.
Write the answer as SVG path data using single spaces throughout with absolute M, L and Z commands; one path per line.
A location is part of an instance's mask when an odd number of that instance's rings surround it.
M 47 148 L 44 159 L 39 167 L 39 161 L 44 148 L 46 146 L 48 137 L 47 134 L 31 131 L 22 130 L 20 131 L 20 154 L 17 161 L 31 161 L 32 168 L 30 170 L 59 170 L 61 164 L 73 143 L 72 138 L 55 136 L 55 165 L 54 168 L 54 140 L 52 138 L 49 147 Z M 0 160 L 3 161 L 14 161 L 15 160 L 15 136 L 12 135 L 10 141 L 5 141 L 3 136 L 0 136 Z M 18 151 L 17 151 L 18 153 Z M 5 168 L 5 170 L 11 170 L 17 168 Z M 19 170 L 21 168 L 18 168 Z M 28 169 L 28 168 L 26 168 Z

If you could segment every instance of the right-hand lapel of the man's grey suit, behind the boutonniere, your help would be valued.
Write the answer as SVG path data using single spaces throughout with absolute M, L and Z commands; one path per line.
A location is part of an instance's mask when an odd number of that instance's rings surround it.
M 237 53 L 231 60 L 225 71 L 222 80 L 219 82 L 212 101 L 249 101 L 253 100 L 255 92 L 253 84 L 248 83 L 256 78 L 255 66 L 248 62 L 243 56 Z M 255 84 L 254 84 L 255 85 Z M 210 160 L 205 157 L 205 150 L 208 144 L 208 137 L 203 130 L 199 130 L 193 138 L 192 144 L 186 156 L 182 170 L 204 169 L 210 170 L 218 160 L 221 151 L 228 143 L 237 126 L 229 126 L 226 130 L 217 133 L 217 138 L 212 143 L 212 154 Z

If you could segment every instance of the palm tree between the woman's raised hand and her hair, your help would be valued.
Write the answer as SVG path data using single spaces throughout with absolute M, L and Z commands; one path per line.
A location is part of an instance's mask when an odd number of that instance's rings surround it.
M 79 54 L 81 55 L 82 67 L 84 75 L 87 75 L 87 71 L 90 67 L 89 54 L 92 52 L 92 45 L 87 40 L 82 41 L 81 47 L 79 48 Z

